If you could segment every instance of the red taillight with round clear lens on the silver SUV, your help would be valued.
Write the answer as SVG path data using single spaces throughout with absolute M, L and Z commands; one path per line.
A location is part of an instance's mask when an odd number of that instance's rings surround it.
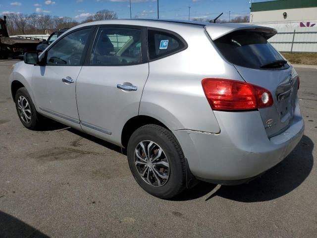
M 271 93 L 257 85 L 222 78 L 205 78 L 203 89 L 212 110 L 245 111 L 273 105 Z

